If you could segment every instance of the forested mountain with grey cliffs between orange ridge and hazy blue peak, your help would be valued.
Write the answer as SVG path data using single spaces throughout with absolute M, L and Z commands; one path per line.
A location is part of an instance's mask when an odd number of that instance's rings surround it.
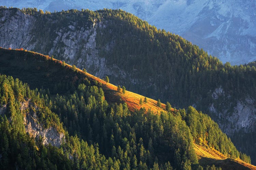
M 176 108 L 193 105 L 256 160 L 251 149 L 256 148 L 255 63 L 222 64 L 184 38 L 122 10 L 39 13 L 2 8 L 0 13 L 0 46 L 54 55 Z

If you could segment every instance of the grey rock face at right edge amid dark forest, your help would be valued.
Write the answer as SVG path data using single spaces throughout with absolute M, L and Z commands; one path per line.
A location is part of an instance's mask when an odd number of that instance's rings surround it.
M 216 88 L 212 93 L 214 100 L 222 98 L 224 101 L 228 101 L 230 96 L 225 94 L 222 87 Z M 245 133 L 253 132 L 256 128 L 256 107 L 255 100 L 246 97 L 244 100 L 240 99 L 232 104 L 233 107 L 220 105 L 218 102 L 210 104 L 209 111 L 214 114 L 213 119 L 218 122 L 219 127 L 228 136 L 233 136 L 235 133 L 243 131 Z M 232 108 L 232 113 L 228 110 Z

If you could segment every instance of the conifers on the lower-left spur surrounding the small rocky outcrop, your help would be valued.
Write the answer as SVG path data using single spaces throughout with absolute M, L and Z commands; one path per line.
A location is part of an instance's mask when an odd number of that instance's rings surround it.
M 61 148 L 51 145 L 43 146 L 41 139 L 35 141 L 25 133 L 23 124 L 24 114 L 30 114 L 37 107 L 37 119 L 44 128 L 55 127 L 63 133 L 62 124 L 56 114 L 45 105 L 47 94 L 40 97 L 38 90 L 30 90 L 27 84 L 22 84 L 12 77 L 0 76 L 0 106 L 6 111 L 0 116 L 1 159 L 0 167 L 3 169 L 88 169 L 98 167 L 105 169 L 108 161 L 99 154 L 98 148 L 89 146 L 87 142 L 76 136 L 68 136 Z M 24 110 L 19 108 L 23 103 L 29 102 Z M 11 119 L 7 119 L 10 116 Z M 70 156 L 72 159 L 70 159 Z M 96 161 L 93 159 L 95 158 Z

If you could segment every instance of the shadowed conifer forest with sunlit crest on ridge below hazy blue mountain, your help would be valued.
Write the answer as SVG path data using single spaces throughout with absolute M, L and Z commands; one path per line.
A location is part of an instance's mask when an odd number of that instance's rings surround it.
M 16 8 L 8 10 L 17 11 Z M 223 64 L 184 38 L 157 30 L 146 21 L 122 10 L 68 10 L 51 15 L 40 14 L 35 8 L 21 11 L 33 15 L 37 20 L 38 24 L 33 27 L 36 33 L 33 38 L 40 39 L 40 43 L 45 39 L 53 40 L 58 36 L 56 29 L 68 28 L 70 23 L 77 23 L 75 29 L 79 29 L 90 27 L 94 21 L 101 21 L 106 27 L 97 28 L 96 45 L 100 57 L 104 57 L 110 66 L 115 64 L 139 80 L 140 83 L 134 85 L 127 78 L 111 79 L 113 84 L 124 83 L 130 91 L 154 99 L 160 98 L 163 102 L 170 101 L 177 108 L 196 104 L 197 109 L 205 113 L 209 112 L 210 103 L 219 103 L 212 97 L 212 92 L 219 87 L 231 96 L 228 102 L 222 101 L 223 106 L 220 107 L 230 107 L 229 103 L 247 96 L 256 99 L 256 93 L 252 93 L 256 89 L 255 63 L 240 66 Z M 114 47 L 105 50 L 112 41 L 115 42 Z M 49 43 L 44 49 L 41 47 L 42 44 L 37 44 L 33 50 L 46 53 L 52 49 L 52 44 Z M 54 55 L 63 60 L 57 51 Z M 148 78 L 151 78 L 150 81 Z M 247 135 L 256 136 L 255 132 Z M 233 138 L 237 138 L 237 135 Z M 248 146 L 254 145 L 255 148 L 254 140 L 254 137 L 246 140 L 250 141 Z M 242 141 L 236 141 L 237 145 L 245 148 Z M 245 150 L 255 155 L 256 152 L 250 148 Z

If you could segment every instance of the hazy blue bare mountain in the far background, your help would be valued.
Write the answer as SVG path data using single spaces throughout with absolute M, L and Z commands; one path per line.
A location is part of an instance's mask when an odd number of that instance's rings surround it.
M 0 0 L 0 5 L 51 12 L 120 8 L 157 28 L 179 34 L 223 63 L 240 65 L 256 60 L 254 0 Z

